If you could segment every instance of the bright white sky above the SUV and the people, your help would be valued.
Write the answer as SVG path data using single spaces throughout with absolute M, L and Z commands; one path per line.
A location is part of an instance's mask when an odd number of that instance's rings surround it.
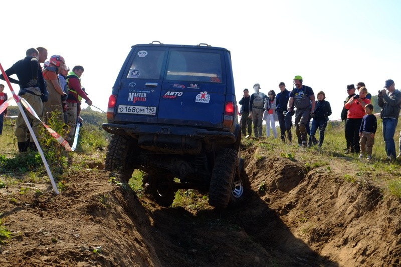
M 347 84 L 362 81 L 372 95 L 386 79 L 401 85 L 396 0 L 102 2 L 2 3 L 3 68 L 24 58 L 28 48 L 45 47 L 49 58 L 61 55 L 70 69 L 85 68 L 82 85 L 104 111 L 131 46 L 156 40 L 230 50 L 237 101 L 255 83 L 264 93 L 278 93 L 280 82 L 292 89 L 293 77 L 301 75 L 315 94 L 325 92 L 331 120 L 340 117 Z

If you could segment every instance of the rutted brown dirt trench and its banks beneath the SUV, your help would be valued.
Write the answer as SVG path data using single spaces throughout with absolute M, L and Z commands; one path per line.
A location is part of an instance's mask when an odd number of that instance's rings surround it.
M 259 150 L 243 151 L 253 191 L 237 209 L 162 208 L 89 163 L 60 195 L 50 183 L 0 189 L 0 218 L 16 236 L 0 246 L 0 265 L 400 264 L 398 199 L 344 180 L 343 159 L 309 170 Z

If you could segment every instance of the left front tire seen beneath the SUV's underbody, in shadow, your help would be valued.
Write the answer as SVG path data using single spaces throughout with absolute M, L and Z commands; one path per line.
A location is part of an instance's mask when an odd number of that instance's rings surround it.
M 143 180 L 143 188 L 146 194 L 162 207 L 171 206 L 175 198 L 177 188 L 172 178 L 146 175 Z

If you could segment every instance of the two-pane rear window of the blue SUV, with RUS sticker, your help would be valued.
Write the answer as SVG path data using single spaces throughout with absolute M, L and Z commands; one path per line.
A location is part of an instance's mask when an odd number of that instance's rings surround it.
M 165 50 L 138 51 L 127 78 L 160 79 Z M 165 80 L 222 83 L 220 53 L 170 50 Z

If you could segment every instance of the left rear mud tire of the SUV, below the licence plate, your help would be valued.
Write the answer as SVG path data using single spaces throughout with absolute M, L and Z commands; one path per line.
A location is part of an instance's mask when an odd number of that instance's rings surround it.
M 135 148 L 133 138 L 113 134 L 107 147 L 105 169 L 118 170 L 121 178 L 128 182 L 135 169 Z

